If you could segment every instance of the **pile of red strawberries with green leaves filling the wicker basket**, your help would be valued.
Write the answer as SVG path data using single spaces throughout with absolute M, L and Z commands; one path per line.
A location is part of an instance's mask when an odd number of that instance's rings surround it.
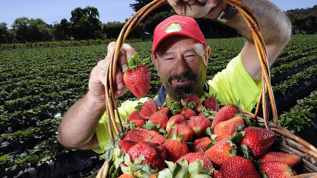
M 276 134 L 253 126 L 236 105 L 219 108 L 215 96 L 166 99 L 160 108 L 149 100 L 140 108 L 128 116 L 135 128 L 126 131 L 114 159 L 124 173 L 120 178 L 287 178 L 302 161 L 267 152 Z

